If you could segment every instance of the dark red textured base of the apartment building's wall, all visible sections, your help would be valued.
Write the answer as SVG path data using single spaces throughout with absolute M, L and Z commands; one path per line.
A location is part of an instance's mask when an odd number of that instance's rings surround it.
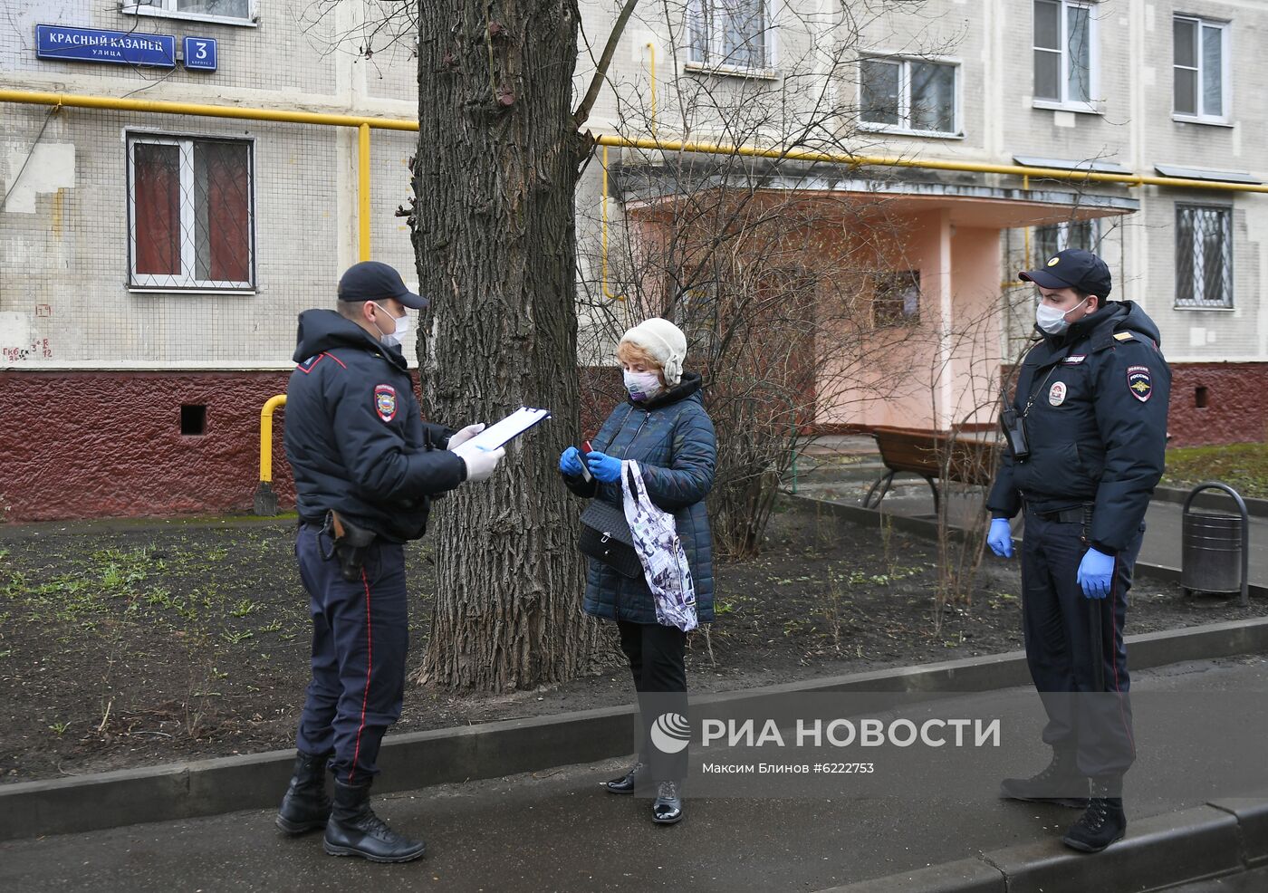
M 1172 374 L 1173 446 L 1268 439 L 1268 363 L 1189 363 Z M 260 407 L 285 393 L 288 377 L 0 372 L 0 519 L 250 512 L 259 482 Z M 595 433 L 619 393 L 614 370 L 582 370 L 583 434 Z M 181 434 L 181 406 L 205 407 L 203 434 Z M 294 488 L 281 446 L 284 425 L 281 410 L 273 477 L 279 509 L 288 511 Z

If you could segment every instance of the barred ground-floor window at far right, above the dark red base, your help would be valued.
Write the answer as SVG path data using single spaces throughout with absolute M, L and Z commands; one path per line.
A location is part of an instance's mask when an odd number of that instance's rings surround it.
M 1175 205 L 1175 306 L 1232 307 L 1232 209 Z

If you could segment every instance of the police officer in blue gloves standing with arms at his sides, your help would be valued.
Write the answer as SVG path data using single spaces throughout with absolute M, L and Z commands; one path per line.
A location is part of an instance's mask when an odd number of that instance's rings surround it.
M 1083 807 L 1063 841 L 1099 852 L 1127 827 L 1122 776 L 1135 741 L 1123 622 L 1163 473 L 1170 370 L 1153 320 L 1130 301 L 1107 301 L 1110 268 L 1097 255 L 1068 249 L 1021 278 L 1038 287 L 1042 339 L 1003 414 L 1008 449 L 987 500 L 988 544 L 1012 557 L 1008 519 L 1025 510 L 1026 660 L 1052 760 L 1006 779 L 1000 793 Z

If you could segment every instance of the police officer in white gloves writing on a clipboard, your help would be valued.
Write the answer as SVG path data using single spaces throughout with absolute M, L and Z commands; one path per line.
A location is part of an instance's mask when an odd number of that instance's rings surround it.
M 503 455 L 463 448 L 483 425 L 454 431 L 422 421 L 401 345 L 406 308 L 426 306 L 387 264 L 354 265 L 339 282 L 337 311 L 299 315 L 287 387 L 295 554 L 313 642 L 299 752 L 276 825 L 292 835 L 325 827 L 326 852 L 382 863 L 425 850 L 369 804 L 379 742 L 404 694 L 403 543 L 422 537 L 434 496 L 488 478 Z

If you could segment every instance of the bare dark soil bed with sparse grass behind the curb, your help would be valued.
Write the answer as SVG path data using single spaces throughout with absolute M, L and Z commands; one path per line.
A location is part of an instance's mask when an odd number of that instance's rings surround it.
M 293 545 L 293 520 L 0 525 L 0 781 L 292 747 L 309 637 Z M 427 647 L 431 548 L 407 549 L 411 666 Z M 935 557 L 791 501 L 760 558 L 718 568 L 692 690 L 1019 649 L 1017 563 L 988 558 L 936 628 Z M 1268 614 L 1148 578 L 1131 603 L 1129 633 Z M 411 688 L 396 731 L 631 700 L 621 666 L 510 695 Z

